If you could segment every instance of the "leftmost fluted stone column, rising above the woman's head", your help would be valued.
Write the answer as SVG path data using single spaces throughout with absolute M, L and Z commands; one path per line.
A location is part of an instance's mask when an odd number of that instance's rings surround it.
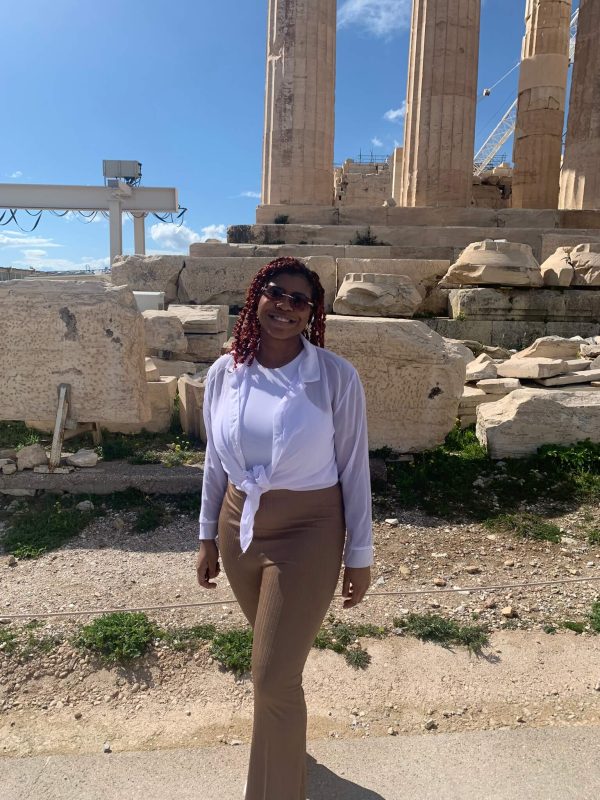
M 269 0 L 263 205 L 332 205 L 336 0 Z

